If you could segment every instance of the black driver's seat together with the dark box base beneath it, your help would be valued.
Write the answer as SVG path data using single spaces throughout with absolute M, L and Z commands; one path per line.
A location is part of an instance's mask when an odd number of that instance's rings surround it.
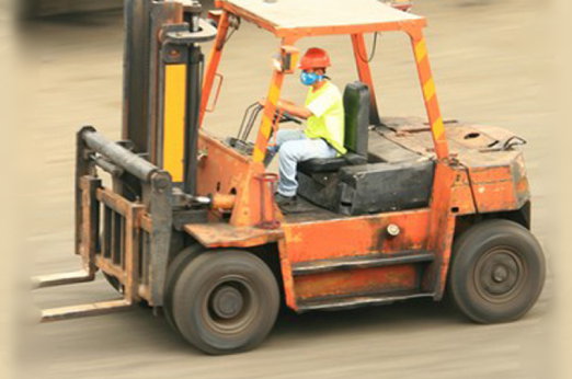
M 300 162 L 297 194 L 341 215 L 426 207 L 431 197 L 434 162 L 420 160 L 413 154 L 413 158 L 408 156 L 401 161 L 381 159 L 368 163 L 369 91 L 364 83 L 347 84 L 344 108 L 344 146 L 348 152 L 343 157 Z

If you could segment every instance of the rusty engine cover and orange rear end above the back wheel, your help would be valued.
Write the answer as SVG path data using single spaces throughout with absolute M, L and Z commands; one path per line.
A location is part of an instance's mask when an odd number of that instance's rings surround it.
M 409 151 L 434 157 L 430 133 L 410 126 L 414 125 L 413 120 L 390 118 L 388 125 L 389 129 L 381 128 L 377 133 Z M 469 172 L 464 177 L 465 174 L 457 170 L 458 179 L 453 184 L 451 207 L 457 214 L 518 209 L 529 199 L 522 152 L 503 150 L 503 141 L 513 138 L 514 134 L 458 122 L 445 125 L 451 154 Z

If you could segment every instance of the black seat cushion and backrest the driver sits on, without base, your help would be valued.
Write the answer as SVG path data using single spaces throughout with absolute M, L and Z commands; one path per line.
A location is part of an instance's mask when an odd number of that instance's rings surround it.
M 361 81 L 354 81 L 344 89 L 344 146 L 347 153 L 335 158 L 314 158 L 298 163 L 298 170 L 306 173 L 334 172 L 344 165 L 367 163 L 369 129 L 369 89 Z

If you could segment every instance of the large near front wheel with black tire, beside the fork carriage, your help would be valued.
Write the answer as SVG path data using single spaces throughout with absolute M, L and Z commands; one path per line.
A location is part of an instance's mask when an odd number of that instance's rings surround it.
M 245 352 L 272 330 L 279 290 L 272 271 L 255 255 L 210 251 L 181 272 L 172 308 L 179 331 L 198 349 L 213 355 Z M 231 314 L 220 315 L 225 312 Z

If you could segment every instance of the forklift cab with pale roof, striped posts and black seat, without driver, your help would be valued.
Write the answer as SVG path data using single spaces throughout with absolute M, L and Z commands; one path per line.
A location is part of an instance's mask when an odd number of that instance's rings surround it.
M 347 153 L 331 159 L 311 159 L 298 164 L 298 195 L 305 200 L 338 215 L 367 215 L 388 210 L 403 210 L 426 207 L 432 192 L 434 163 L 422 154 L 408 154 L 408 149 L 385 141 L 385 125 L 378 115 L 377 99 L 369 64 L 362 57 L 367 56 L 364 34 L 402 31 L 411 37 L 415 65 L 423 84 L 423 97 L 436 145 L 437 159 L 447 156 L 443 120 L 439 115 L 433 79 L 426 58 L 425 42 L 422 28 L 425 19 L 402 12 L 391 7 L 375 2 L 364 2 L 363 9 L 356 12 L 356 20 L 340 18 L 341 14 L 329 14 L 330 24 L 323 25 L 320 18 L 308 15 L 296 21 L 289 13 L 291 3 L 264 1 L 218 1 L 217 8 L 222 13 L 214 15 L 218 23 L 217 42 L 206 68 L 203 87 L 201 122 L 209 101 L 209 94 L 216 82 L 218 62 L 221 58 L 225 36 L 237 18 L 250 21 L 265 28 L 282 39 L 279 57 L 275 61 L 270 91 L 262 113 L 261 125 L 255 142 L 247 141 L 247 135 L 239 131 L 238 141 L 230 143 L 239 147 L 242 154 L 250 156 L 254 162 L 263 162 L 272 134 L 279 127 L 281 117 L 276 114 L 276 103 L 285 74 L 295 72 L 299 51 L 295 44 L 302 37 L 320 35 L 347 35 L 353 46 L 358 80 L 348 83 L 343 93 L 345 110 L 345 147 Z M 316 9 L 333 9 L 331 2 L 312 3 Z M 258 14 L 264 14 L 264 19 Z M 312 13 L 313 14 L 313 13 Z M 359 21 L 357 21 L 359 19 Z M 367 19 L 367 22 L 366 20 Z M 348 42 L 350 42 L 348 41 Z M 425 91 L 426 89 L 426 91 Z M 218 93 L 218 89 L 216 91 Z M 255 118 L 255 117 L 253 117 Z M 244 117 L 249 119 L 249 117 Z M 282 120 L 287 120 L 282 118 Z M 252 126 L 250 126 L 252 128 Z M 250 128 L 248 128 L 250 130 Z M 241 128 L 242 130 L 242 128 Z M 385 130 L 389 130 L 385 128 Z M 371 143 L 373 142 L 373 143 Z M 387 159 L 387 145 L 390 151 L 403 150 L 399 156 L 408 156 L 407 161 Z M 247 146 L 247 149 L 244 149 Z M 408 188 L 407 191 L 399 190 Z

